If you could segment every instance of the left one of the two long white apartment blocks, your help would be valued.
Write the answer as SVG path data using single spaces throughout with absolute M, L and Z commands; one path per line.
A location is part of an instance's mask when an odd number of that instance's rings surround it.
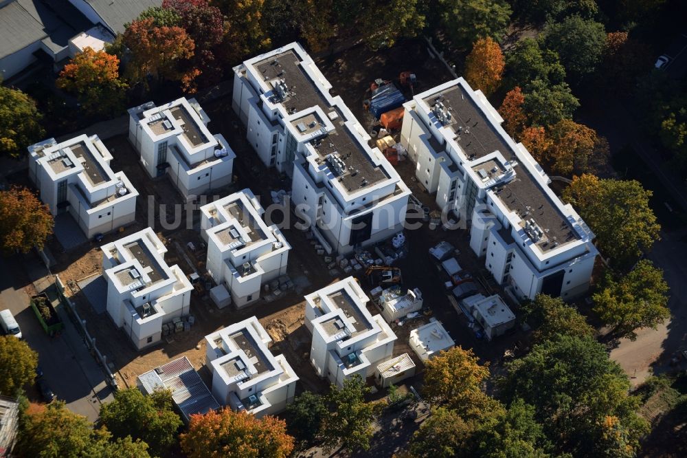
M 234 68 L 232 107 L 267 166 L 292 177 L 296 214 L 328 252 L 394 235 L 409 189 L 298 43 Z

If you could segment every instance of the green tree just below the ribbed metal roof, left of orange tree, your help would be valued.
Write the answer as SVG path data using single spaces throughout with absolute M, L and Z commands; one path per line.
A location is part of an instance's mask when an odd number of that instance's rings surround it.
M 100 407 L 100 423 L 114 437 L 131 435 L 160 455 L 177 442 L 181 419 L 172 411 L 169 391 L 145 396 L 138 389 L 130 388 L 115 392 L 115 400 Z

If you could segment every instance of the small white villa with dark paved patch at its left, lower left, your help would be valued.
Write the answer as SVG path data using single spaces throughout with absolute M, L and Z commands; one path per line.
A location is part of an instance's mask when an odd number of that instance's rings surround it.
M 167 265 L 167 248 L 146 228 L 102 247 L 107 313 L 137 349 L 159 342 L 162 325 L 187 315 L 193 287 Z

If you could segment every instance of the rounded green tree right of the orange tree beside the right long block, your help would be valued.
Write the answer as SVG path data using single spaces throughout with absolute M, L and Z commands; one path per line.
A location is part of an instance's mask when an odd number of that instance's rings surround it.
M 534 80 L 528 85 L 523 110 L 531 122 L 548 127 L 572 118 L 572 113 L 579 106 L 580 102 L 566 83 L 547 85 Z

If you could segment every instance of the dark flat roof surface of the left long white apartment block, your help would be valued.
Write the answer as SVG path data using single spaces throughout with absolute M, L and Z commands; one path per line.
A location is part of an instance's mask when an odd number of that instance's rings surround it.
M 293 50 L 265 58 L 254 66 L 262 74 L 264 80 L 273 86 L 280 80 L 286 83 L 288 92 L 284 94 L 282 100 L 274 101 L 279 102 L 287 113 L 297 113 L 315 106 L 320 107 L 324 113 L 336 110 L 336 107 L 328 104 L 315 83 L 304 72 L 301 59 Z M 275 95 L 276 92 L 275 90 Z M 315 149 L 319 156 L 324 160 L 330 153 L 338 153 L 346 164 L 346 171 L 337 179 L 344 187 L 350 189 L 350 192 L 387 179 L 388 176 L 383 169 L 372 163 L 372 158 L 367 151 L 363 150 L 363 147 L 352 138 L 343 125 L 343 114 L 339 110 L 336 111 L 335 130 L 311 142 L 313 146 L 317 145 Z M 356 171 L 357 173 L 354 173 Z

